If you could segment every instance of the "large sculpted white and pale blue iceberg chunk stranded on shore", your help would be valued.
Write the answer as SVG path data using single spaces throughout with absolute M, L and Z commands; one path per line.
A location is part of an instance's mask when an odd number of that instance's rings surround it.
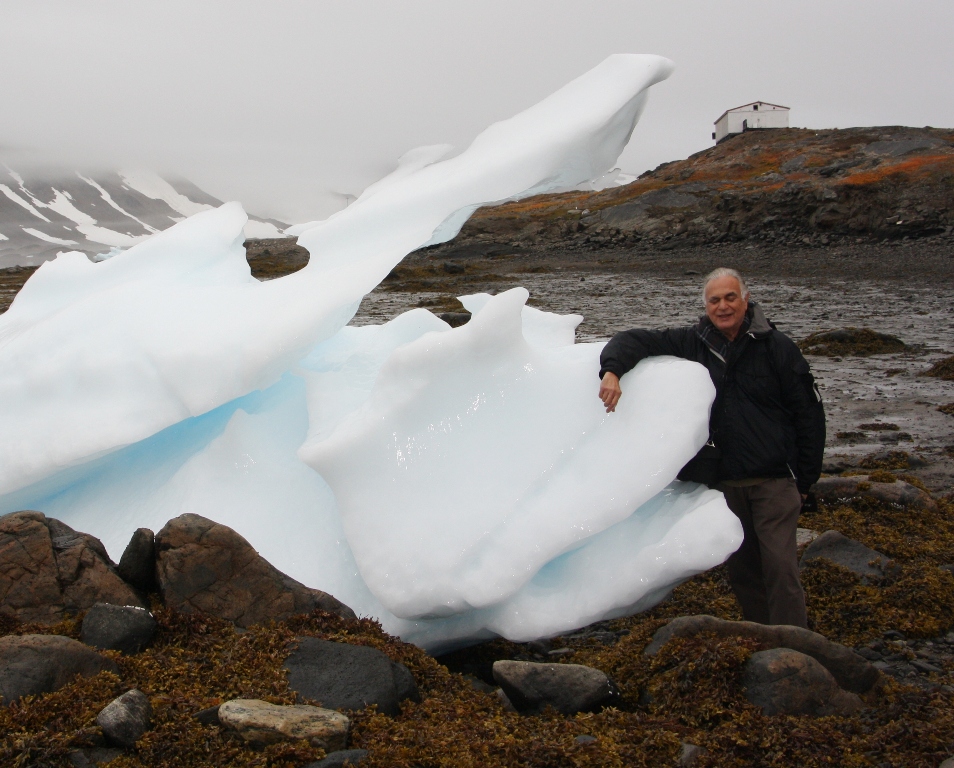
M 44 264 L 0 317 L 0 512 L 39 509 L 118 558 L 185 512 L 431 649 L 640 610 L 741 541 L 721 494 L 673 480 L 713 389 L 656 358 L 596 397 L 599 344 L 527 293 L 351 327 L 361 297 L 482 204 L 613 166 L 671 63 L 613 56 L 450 159 L 398 170 L 299 228 L 260 283 L 238 204 L 92 263 Z

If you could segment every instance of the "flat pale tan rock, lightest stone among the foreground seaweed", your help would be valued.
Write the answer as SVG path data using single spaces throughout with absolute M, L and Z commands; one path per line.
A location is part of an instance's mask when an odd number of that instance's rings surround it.
M 233 699 L 219 707 L 219 722 L 254 746 L 304 739 L 326 752 L 344 749 L 351 721 L 340 712 L 303 704 L 280 706 Z

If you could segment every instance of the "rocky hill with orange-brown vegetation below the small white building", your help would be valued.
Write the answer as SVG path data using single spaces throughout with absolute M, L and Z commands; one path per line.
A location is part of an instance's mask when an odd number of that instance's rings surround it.
M 750 131 L 623 187 L 483 208 L 444 255 L 546 244 L 675 249 L 950 236 L 954 131 Z

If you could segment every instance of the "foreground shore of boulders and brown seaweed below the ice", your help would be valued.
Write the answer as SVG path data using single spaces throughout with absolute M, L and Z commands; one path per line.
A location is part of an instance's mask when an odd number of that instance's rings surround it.
M 643 614 L 436 659 L 197 515 L 136 531 L 118 564 L 7 515 L 0 760 L 935 766 L 954 752 L 954 498 L 885 470 L 813 491 L 814 631 L 739 621 L 720 567 Z

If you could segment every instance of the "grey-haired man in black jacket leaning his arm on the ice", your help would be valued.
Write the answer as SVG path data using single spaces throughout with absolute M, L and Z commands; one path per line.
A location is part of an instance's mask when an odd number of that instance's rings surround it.
M 615 410 L 620 377 L 646 357 L 674 355 L 709 370 L 709 442 L 680 477 L 722 491 L 742 522 L 745 539 L 728 567 L 745 619 L 804 627 L 795 529 L 821 472 L 821 395 L 798 347 L 749 301 L 738 272 L 712 272 L 703 298 L 706 313 L 694 326 L 616 334 L 600 358 L 600 399 Z

